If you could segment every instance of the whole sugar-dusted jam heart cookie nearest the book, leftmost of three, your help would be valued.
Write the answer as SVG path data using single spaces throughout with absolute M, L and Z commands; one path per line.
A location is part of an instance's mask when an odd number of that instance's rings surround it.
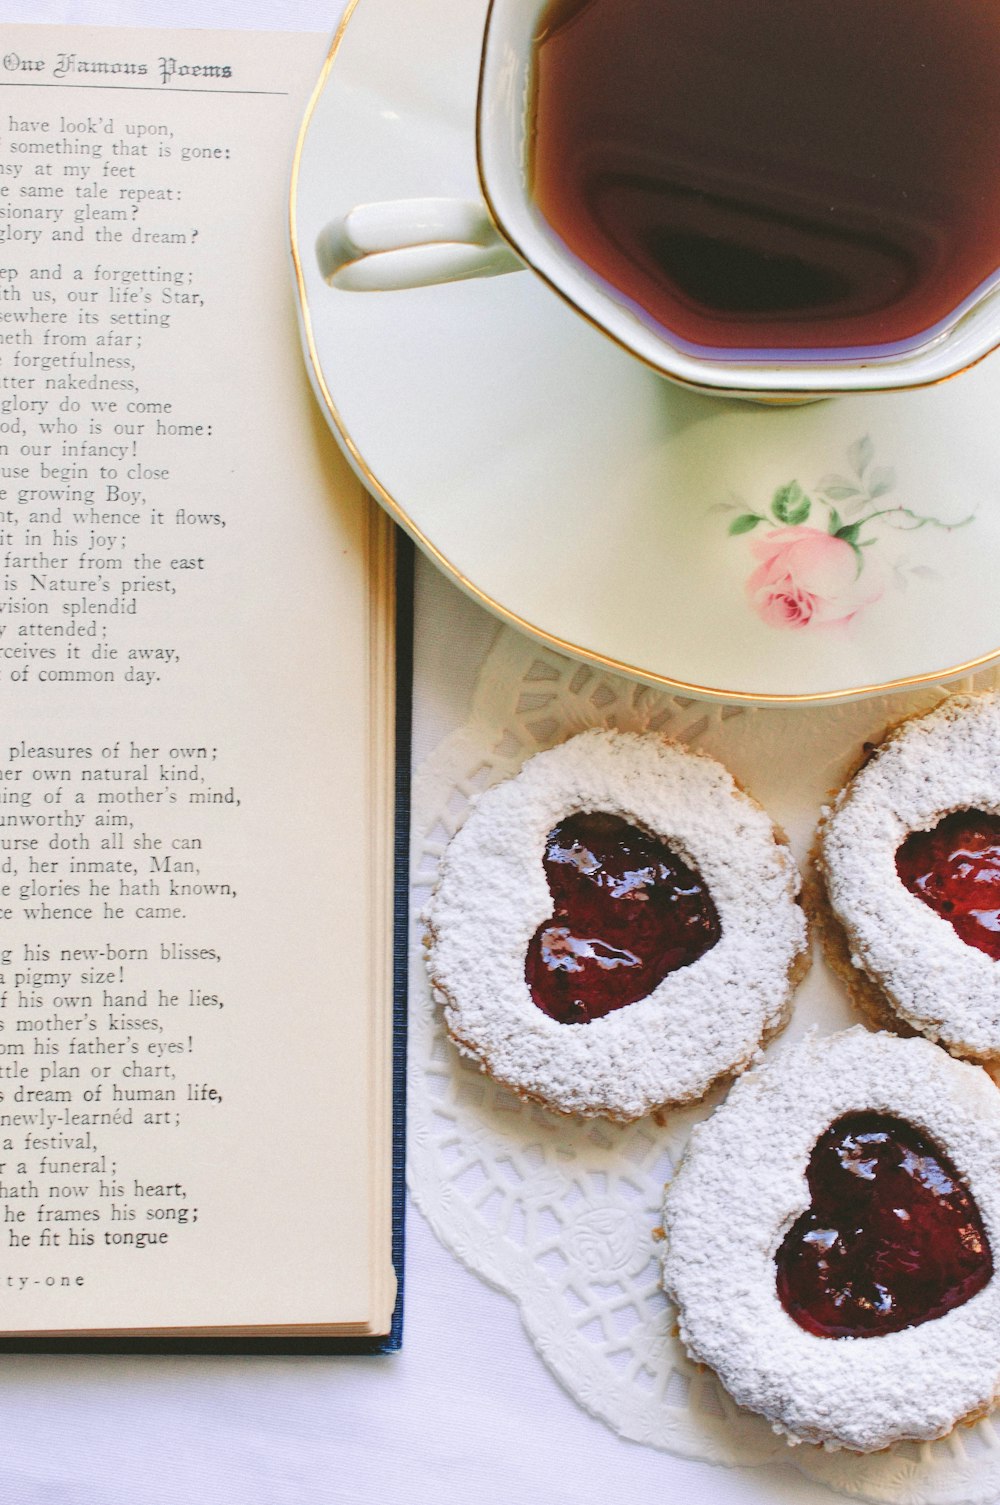
M 426 915 L 453 1040 L 565 1114 L 639 1118 L 742 1070 L 804 969 L 798 873 L 714 759 L 584 731 L 486 790 Z

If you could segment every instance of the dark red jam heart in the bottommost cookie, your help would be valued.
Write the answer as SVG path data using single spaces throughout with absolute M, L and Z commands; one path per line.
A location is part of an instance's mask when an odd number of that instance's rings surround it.
M 777 1294 L 819 1338 L 878 1338 L 980 1291 L 992 1254 L 949 1157 L 904 1118 L 837 1118 L 809 1160 L 812 1207 L 777 1251 Z

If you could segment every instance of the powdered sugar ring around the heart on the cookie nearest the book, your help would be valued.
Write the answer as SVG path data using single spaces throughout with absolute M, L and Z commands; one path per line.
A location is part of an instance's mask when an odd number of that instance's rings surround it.
M 721 923 L 697 962 L 586 1025 L 550 1019 L 524 980 L 529 941 L 553 912 L 545 838 L 577 811 L 666 838 Z M 806 945 L 798 886 L 770 819 L 714 759 L 584 731 L 480 795 L 449 844 L 425 917 L 431 983 L 459 1047 L 497 1081 L 559 1112 L 639 1118 L 702 1097 L 783 1022 Z

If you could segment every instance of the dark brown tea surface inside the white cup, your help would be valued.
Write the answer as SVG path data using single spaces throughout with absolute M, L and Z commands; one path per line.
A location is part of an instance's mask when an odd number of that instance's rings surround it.
M 532 191 L 693 349 L 917 345 L 1000 268 L 997 0 L 550 0 Z

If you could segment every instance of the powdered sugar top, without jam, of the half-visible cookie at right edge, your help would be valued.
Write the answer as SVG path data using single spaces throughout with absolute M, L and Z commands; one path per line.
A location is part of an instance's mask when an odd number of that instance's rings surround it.
M 854 965 L 896 1013 L 956 1055 L 1000 1057 L 1000 966 L 911 894 L 896 850 L 955 810 L 1000 814 L 1000 694 L 907 721 L 837 796 L 821 867 Z

